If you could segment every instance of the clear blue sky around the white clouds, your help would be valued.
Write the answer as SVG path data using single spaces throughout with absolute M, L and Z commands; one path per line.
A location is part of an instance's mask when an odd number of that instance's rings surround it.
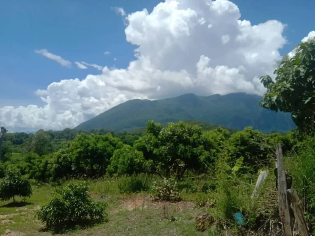
M 60 80 L 83 80 L 88 74 L 101 73 L 93 67 L 81 70 L 74 64 L 76 61 L 127 68 L 129 62 L 136 59 L 134 50 L 139 45 L 126 41 L 126 25 L 114 7 L 122 7 L 127 14 L 143 8 L 151 13 L 160 2 L 3 1 L 0 8 L 0 82 L 4 89 L 2 87 L 0 93 L 0 108 L 30 104 L 42 107 L 46 103 L 35 95 L 37 89 L 45 90 L 49 84 Z M 311 0 L 232 2 L 239 8 L 240 19 L 249 20 L 251 25 L 267 20 L 278 20 L 286 25 L 282 35 L 287 43 L 279 49 L 280 54 L 288 53 L 315 28 L 312 17 L 315 2 Z M 71 68 L 35 53 L 41 49 L 72 62 Z M 104 55 L 106 51 L 110 54 Z

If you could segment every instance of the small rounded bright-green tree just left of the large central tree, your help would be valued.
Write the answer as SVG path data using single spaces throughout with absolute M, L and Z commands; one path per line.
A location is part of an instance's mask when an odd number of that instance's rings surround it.
M 124 145 L 117 149 L 111 158 L 111 164 L 107 167 L 107 173 L 117 175 L 132 175 L 145 169 L 145 159 L 142 152 L 135 148 Z

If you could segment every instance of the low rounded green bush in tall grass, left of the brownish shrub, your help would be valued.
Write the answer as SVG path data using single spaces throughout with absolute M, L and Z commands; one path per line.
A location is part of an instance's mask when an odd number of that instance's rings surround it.
M 148 190 L 148 186 L 144 183 L 140 176 L 125 176 L 118 183 L 119 192 L 122 194 L 138 193 L 142 190 Z

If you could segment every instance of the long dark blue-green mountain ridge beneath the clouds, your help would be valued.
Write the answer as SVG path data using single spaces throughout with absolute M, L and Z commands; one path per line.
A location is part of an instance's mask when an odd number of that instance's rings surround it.
M 295 128 L 290 114 L 259 106 L 260 96 L 246 93 L 197 96 L 192 93 L 160 100 L 129 100 L 83 122 L 75 129 L 126 131 L 144 127 L 148 120 L 168 122 L 199 120 L 242 130 L 287 132 Z

